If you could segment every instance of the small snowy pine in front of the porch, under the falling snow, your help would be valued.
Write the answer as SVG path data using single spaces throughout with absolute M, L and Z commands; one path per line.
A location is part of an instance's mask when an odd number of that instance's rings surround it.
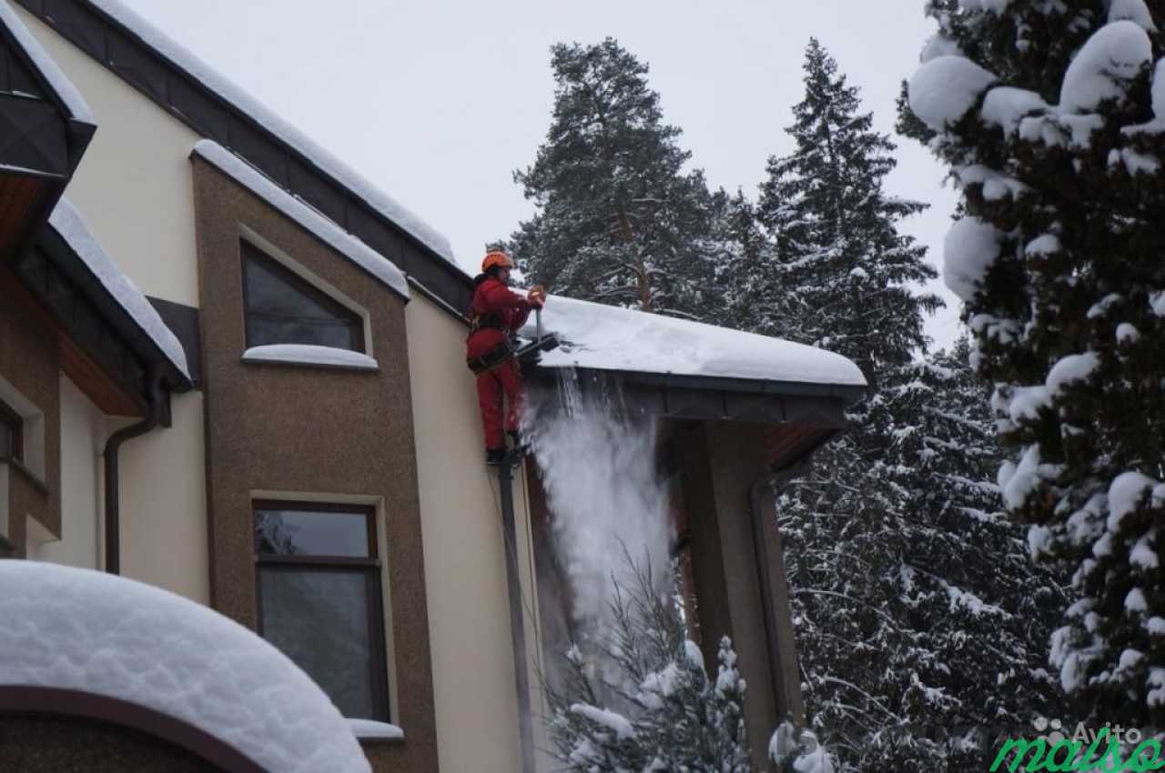
M 721 640 L 709 679 L 675 594 L 652 583 L 649 567 L 628 575 L 634 584 L 612 600 L 609 651 L 572 647 L 563 683 L 548 688 L 562 770 L 750 773 L 744 681 L 730 641 Z

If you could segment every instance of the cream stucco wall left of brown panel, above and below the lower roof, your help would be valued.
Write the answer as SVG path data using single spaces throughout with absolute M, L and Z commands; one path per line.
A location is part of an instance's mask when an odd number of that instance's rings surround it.
M 190 150 L 198 135 L 27 12 L 98 130 L 65 196 L 148 296 L 198 305 Z M 122 574 L 209 601 L 203 398 L 176 395 L 174 426 L 121 451 Z M 110 420 L 112 433 L 127 421 Z M 78 515 L 83 517 L 83 515 Z

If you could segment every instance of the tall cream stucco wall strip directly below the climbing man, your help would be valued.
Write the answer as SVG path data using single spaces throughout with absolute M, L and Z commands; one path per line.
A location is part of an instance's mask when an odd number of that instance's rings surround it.
M 506 547 L 497 477 L 483 463 L 474 382 L 465 367 L 466 328 L 421 293 L 414 293 L 405 317 L 440 770 L 514 773 L 522 767 Z M 529 610 L 531 702 L 542 715 L 522 477 L 515 481 L 514 498 Z M 536 718 L 536 730 L 537 724 Z

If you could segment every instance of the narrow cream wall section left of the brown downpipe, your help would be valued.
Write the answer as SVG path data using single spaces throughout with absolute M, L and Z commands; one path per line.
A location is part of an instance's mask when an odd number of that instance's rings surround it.
M 61 376 L 61 539 L 28 536 L 28 558 L 100 568 L 101 446 L 105 417 L 68 376 Z

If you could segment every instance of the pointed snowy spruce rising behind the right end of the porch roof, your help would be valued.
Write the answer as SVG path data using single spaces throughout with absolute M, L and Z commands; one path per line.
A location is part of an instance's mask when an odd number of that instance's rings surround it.
M 755 314 L 751 329 L 824 346 L 875 378 L 924 346 L 923 314 L 940 305 L 912 286 L 937 275 L 896 227 L 925 205 L 883 191 L 894 143 L 816 40 L 804 71 L 786 129 L 797 147 L 769 159 L 756 210 L 774 246 L 736 272 L 733 295 Z

